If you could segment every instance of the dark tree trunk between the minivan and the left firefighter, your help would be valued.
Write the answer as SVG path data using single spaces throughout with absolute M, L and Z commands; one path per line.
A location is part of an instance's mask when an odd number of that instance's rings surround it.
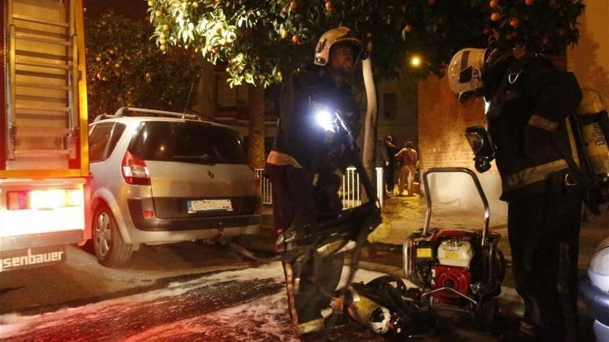
M 249 133 L 248 164 L 254 169 L 264 167 L 264 87 L 248 86 Z

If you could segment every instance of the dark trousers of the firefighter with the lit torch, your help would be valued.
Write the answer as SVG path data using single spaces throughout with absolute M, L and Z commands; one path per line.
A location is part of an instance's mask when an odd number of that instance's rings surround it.
M 335 182 L 331 176 L 320 177 L 320 183 L 313 187 L 303 169 L 267 164 L 266 171 L 273 187 L 273 220 L 278 235 L 291 225 L 303 231 L 311 229 L 306 227 L 317 222 L 319 211 L 340 210 L 336 207 L 340 182 Z M 337 198 L 327 198 L 327 194 Z M 298 259 L 284 262 L 288 305 L 298 333 L 324 328 L 320 311 L 329 307 L 342 270 L 343 254 L 313 255 L 305 263 Z

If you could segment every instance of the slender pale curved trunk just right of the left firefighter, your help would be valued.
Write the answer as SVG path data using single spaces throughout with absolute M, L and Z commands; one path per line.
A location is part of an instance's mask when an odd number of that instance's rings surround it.
M 372 44 L 367 46 L 368 53 L 372 55 Z M 376 85 L 374 84 L 374 75 L 372 75 L 372 57 L 368 57 L 362 61 L 362 73 L 364 77 L 364 85 L 366 88 L 367 108 L 364 118 L 364 141 L 362 151 L 362 164 L 372 184 L 376 178 L 374 169 L 374 155 L 376 146 L 376 120 L 378 112 L 378 104 L 376 103 Z M 363 202 L 367 202 L 367 196 L 363 196 Z

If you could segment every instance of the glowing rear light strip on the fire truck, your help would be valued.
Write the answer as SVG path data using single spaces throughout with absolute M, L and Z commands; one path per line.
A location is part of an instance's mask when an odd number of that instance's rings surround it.
M 9 191 L 6 202 L 8 210 L 78 207 L 84 202 L 84 193 L 82 189 Z

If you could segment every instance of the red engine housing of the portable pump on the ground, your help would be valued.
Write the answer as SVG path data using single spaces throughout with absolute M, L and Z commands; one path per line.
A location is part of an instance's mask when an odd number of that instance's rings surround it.
M 462 294 L 468 294 L 469 284 L 471 282 L 471 274 L 469 269 L 466 267 L 458 266 L 447 266 L 447 265 L 433 265 L 431 267 L 432 281 L 431 288 L 437 289 L 439 287 L 452 287 Z M 439 291 L 433 294 L 433 296 L 443 301 L 448 298 L 459 298 L 458 294 L 452 291 Z

